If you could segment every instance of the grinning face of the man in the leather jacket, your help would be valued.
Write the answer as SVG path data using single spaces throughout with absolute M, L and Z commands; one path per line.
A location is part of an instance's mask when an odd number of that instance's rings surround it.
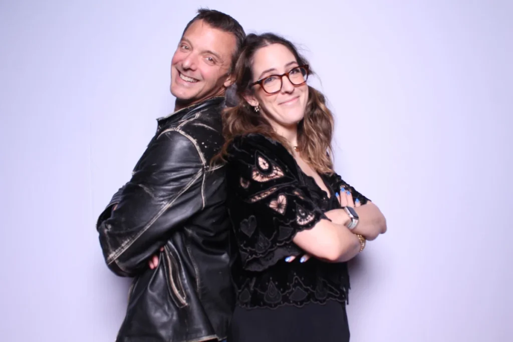
M 202 20 L 185 31 L 171 61 L 171 94 L 175 109 L 223 95 L 233 83 L 230 71 L 236 48 L 235 36 Z

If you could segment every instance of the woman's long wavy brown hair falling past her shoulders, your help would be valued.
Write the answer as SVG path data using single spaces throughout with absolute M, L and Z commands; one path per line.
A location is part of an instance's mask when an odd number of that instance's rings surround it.
M 271 139 L 277 140 L 292 153 L 292 146 L 281 136 L 274 132 L 268 120 L 244 98 L 244 95 L 253 91 L 249 84 L 253 82 L 252 65 L 255 52 L 260 48 L 282 44 L 295 56 L 299 65 L 308 64 L 299 54 L 292 43 L 273 33 L 249 34 L 246 36 L 241 55 L 235 64 L 235 87 L 237 104 L 228 107 L 223 112 L 223 135 L 226 139 L 221 152 L 214 157 L 225 160 L 227 148 L 233 138 L 249 133 L 261 133 Z M 313 74 L 309 68 L 309 75 Z M 308 86 L 308 101 L 304 118 L 298 124 L 298 150 L 310 166 L 319 173 L 333 172 L 331 160 L 331 138 L 333 135 L 333 115 L 326 107 L 324 95 Z

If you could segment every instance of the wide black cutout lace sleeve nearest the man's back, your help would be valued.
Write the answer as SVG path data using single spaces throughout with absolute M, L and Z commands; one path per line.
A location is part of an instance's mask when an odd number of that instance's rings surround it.
M 244 269 L 262 271 L 302 253 L 294 235 L 326 216 L 300 184 L 293 157 L 258 134 L 235 138 L 228 153 L 228 207 Z

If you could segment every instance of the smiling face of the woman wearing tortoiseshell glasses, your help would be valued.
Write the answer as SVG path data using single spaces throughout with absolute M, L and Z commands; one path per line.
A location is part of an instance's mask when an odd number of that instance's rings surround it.
M 290 72 L 289 77 L 294 84 L 304 81 L 305 75 L 292 52 L 282 44 L 271 44 L 259 49 L 253 56 L 253 80 L 271 75 L 281 75 Z M 278 131 L 282 128 L 292 128 L 303 119 L 308 100 L 308 86 L 294 85 L 287 76 L 272 76 L 262 84 L 253 86 L 253 94 L 246 97 L 251 106 L 260 106 L 260 111 Z M 280 87 L 281 83 L 281 87 Z M 269 94 L 268 92 L 274 92 Z

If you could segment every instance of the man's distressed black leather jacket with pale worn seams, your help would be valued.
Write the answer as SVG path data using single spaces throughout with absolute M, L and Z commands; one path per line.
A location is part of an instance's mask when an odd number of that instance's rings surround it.
M 132 178 L 98 218 L 108 267 L 134 277 L 117 342 L 226 337 L 231 225 L 224 167 L 209 166 L 223 144 L 223 107 L 224 97 L 214 97 L 160 118 Z

